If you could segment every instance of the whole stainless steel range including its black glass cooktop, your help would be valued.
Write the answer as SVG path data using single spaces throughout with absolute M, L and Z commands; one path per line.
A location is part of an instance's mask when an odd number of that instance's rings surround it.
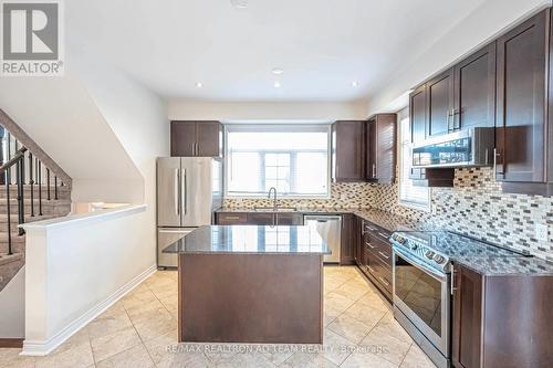
M 449 231 L 400 231 L 390 241 L 394 317 L 438 367 L 450 367 L 451 263 L 525 254 Z

